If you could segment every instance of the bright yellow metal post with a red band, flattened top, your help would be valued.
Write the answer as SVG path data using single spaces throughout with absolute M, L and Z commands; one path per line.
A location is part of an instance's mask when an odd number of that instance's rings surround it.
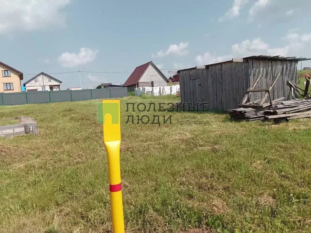
M 112 231 L 124 233 L 120 171 L 120 100 L 103 100 L 104 144 L 108 159 Z

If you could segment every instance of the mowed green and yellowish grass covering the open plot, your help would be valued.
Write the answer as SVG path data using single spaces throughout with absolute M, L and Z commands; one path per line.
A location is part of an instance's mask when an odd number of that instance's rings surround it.
M 310 119 L 274 125 L 211 112 L 126 112 L 126 103 L 177 101 L 121 99 L 127 232 L 311 231 Z M 0 107 L 0 119 L 33 117 L 40 131 L 0 139 L 0 232 L 109 232 L 97 103 Z M 160 127 L 125 124 L 127 115 L 160 115 L 163 123 L 171 114 L 172 124 Z M 202 124 L 182 124 L 190 117 Z

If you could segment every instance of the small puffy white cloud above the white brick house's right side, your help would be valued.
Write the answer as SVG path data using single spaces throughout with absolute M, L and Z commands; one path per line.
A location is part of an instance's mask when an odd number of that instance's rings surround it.
M 61 63 L 63 67 L 75 67 L 92 62 L 96 58 L 97 50 L 92 50 L 90 48 L 80 48 L 80 52 L 77 53 L 62 53 L 58 57 L 58 62 Z

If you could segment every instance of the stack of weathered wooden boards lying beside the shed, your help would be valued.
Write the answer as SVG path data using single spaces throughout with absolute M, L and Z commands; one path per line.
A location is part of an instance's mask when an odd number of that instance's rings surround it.
M 240 107 L 227 111 L 232 120 L 245 121 L 283 121 L 311 117 L 311 98 L 275 101 L 273 107 L 264 105 L 262 108 Z

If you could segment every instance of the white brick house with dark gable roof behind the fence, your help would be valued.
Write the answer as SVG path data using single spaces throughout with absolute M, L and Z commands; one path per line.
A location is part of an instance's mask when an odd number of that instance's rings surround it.
M 26 91 L 60 91 L 62 81 L 41 72 L 24 83 Z

